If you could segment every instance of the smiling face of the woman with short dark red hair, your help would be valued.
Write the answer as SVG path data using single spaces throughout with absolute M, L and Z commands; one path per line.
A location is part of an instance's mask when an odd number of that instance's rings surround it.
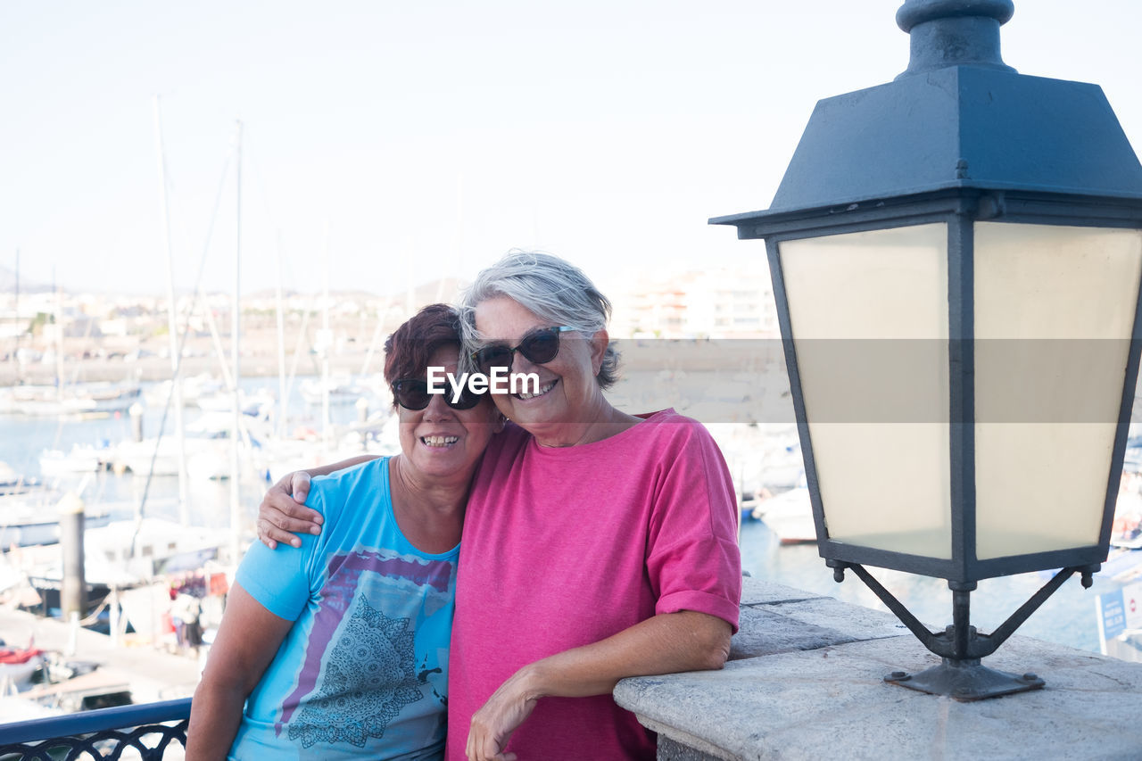
M 457 374 L 459 358 L 459 346 L 444 345 L 433 352 L 428 367 Z M 426 376 L 427 368 L 423 368 L 420 377 Z M 452 409 L 444 400 L 444 394 L 432 394 L 424 409 L 397 406 L 401 452 L 421 475 L 464 480 L 472 475 L 488 441 L 504 423 L 486 395 L 472 409 Z

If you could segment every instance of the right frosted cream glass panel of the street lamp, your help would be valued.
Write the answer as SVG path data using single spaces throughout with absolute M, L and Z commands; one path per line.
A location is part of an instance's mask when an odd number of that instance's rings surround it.
M 1099 543 L 1142 232 L 975 225 L 975 552 Z

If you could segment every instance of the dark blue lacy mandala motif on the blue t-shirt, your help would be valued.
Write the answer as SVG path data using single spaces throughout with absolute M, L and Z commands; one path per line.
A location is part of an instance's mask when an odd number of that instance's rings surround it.
M 424 697 L 412 639 L 408 618 L 389 618 L 361 595 L 320 690 L 290 722 L 289 738 L 304 747 L 319 742 L 363 747 L 368 738 L 383 737 L 402 707 Z

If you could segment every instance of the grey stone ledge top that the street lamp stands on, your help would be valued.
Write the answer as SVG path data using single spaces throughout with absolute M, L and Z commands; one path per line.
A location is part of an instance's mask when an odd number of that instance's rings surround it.
M 1035 672 L 1046 688 L 958 703 L 883 681 L 939 663 L 892 616 L 785 590 L 770 599 L 743 606 L 734 638 L 755 655 L 616 688 L 660 734 L 660 759 L 1142 758 L 1142 664 L 1015 636 L 984 665 Z

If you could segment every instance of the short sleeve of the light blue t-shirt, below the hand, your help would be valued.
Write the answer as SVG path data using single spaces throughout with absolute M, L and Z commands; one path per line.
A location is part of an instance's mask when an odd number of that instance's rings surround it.
M 311 488 L 306 505 L 324 513 L 321 490 Z M 279 543 L 271 550 L 255 542 L 242 558 L 234 580 L 273 615 L 297 620 L 309 601 L 311 562 L 321 546 L 321 537 L 301 536 L 301 546 Z

